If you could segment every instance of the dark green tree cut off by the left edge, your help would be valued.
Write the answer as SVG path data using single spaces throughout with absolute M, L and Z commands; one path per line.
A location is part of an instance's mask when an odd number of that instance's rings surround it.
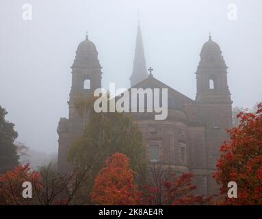
M 18 133 L 14 131 L 14 124 L 5 120 L 6 110 L 0 106 L 0 172 L 11 170 L 18 165 L 16 140 Z

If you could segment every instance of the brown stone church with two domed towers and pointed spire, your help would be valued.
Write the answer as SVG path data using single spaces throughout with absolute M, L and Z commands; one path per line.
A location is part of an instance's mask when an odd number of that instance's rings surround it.
M 72 68 L 69 118 L 60 118 L 58 169 L 70 167 L 66 155 L 73 140 L 81 135 L 86 119 L 80 118 L 74 107 L 78 96 L 93 95 L 101 88 L 102 72 L 98 52 L 93 42 L 83 40 L 77 47 Z M 192 74 L 192 77 L 194 75 Z M 148 74 L 140 25 L 137 27 L 131 88 L 168 88 L 168 118 L 155 120 L 153 113 L 131 113 L 134 123 L 142 131 L 148 164 L 172 166 L 177 172 L 192 172 L 200 194 L 218 193 L 218 185 L 211 177 L 219 156 L 219 147 L 228 139 L 226 129 L 232 127 L 232 101 L 227 83 L 227 66 L 219 45 L 211 39 L 200 51 L 196 69 L 196 99 Z

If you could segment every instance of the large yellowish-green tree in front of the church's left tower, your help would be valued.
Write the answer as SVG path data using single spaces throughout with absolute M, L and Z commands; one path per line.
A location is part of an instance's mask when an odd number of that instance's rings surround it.
M 120 113 L 96 113 L 93 109 L 94 98 L 78 99 L 75 107 L 79 114 L 88 118 L 88 123 L 68 153 L 69 162 L 90 169 L 90 184 L 103 166 L 106 157 L 123 153 L 130 159 L 130 166 L 137 177 L 144 177 L 146 160 L 142 133 L 131 118 Z

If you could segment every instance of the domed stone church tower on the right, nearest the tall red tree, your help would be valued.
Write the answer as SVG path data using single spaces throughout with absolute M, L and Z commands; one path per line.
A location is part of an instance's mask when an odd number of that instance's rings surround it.
M 219 45 L 211 36 L 200 52 L 196 71 L 196 105 L 198 116 L 205 124 L 208 194 L 217 190 L 211 172 L 219 156 L 219 147 L 228 139 L 226 129 L 232 127 L 232 101 L 227 83 L 227 66 Z

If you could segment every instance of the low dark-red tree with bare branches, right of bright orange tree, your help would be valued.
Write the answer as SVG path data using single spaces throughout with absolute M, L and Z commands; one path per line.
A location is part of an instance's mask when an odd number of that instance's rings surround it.
M 170 166 L 152 164 L 150 181 L 144 185 L 146 205 L 207 205 L 214 196 L 194 194 L 196 185 L 192 183 L 192 173 L 176 174 Z

